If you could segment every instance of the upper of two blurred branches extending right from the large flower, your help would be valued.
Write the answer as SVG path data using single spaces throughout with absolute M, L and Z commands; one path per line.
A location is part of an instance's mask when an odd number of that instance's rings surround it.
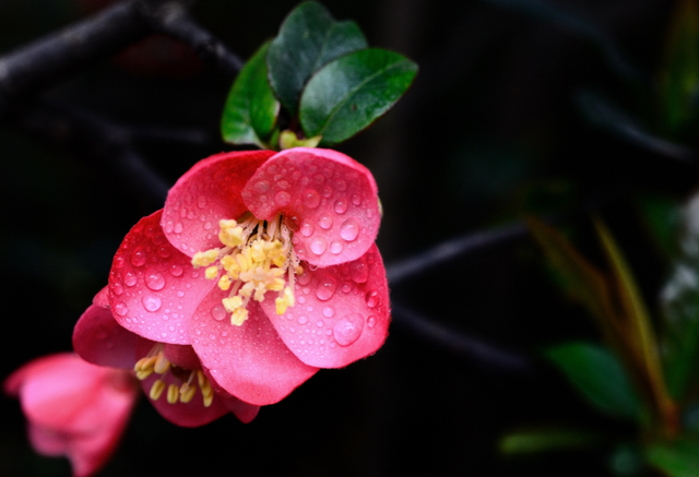
M 482 250 L 510 240 L 525 237 L 529 234 L 524 224 L 518 223 L 497 230 L 470 234 L 420 252 L 415 257 L 402 260 L 386 267 L 391 285 L 395 285 L 405 278 L 423 273 L 424 271 L 442 264 L 448 260 Z

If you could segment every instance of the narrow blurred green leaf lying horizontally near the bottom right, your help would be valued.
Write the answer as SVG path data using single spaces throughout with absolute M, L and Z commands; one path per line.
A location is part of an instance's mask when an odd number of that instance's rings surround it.
M 510 432 L 500 439 L 503 454 L 533 454 L 591 445 L 600 440 L 597 434 L 572 429 L 532 429 Z

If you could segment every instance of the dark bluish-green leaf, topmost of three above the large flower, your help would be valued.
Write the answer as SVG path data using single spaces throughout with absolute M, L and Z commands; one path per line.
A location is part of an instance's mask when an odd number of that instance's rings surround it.
M 356 23 L 335 22 L 319 3 L 301 3 L 286 17 L 270 46 L 266 62 L 272 88 L 284 108 L 296 115 L 304 85 L 316 70 L 367 46 Z

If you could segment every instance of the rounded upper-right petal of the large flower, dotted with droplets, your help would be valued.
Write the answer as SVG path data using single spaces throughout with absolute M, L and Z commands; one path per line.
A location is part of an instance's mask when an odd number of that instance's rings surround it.
M 342 153 L 296 147 L 254 172 L 241 192 L 258 218 L 283 213 L 298 229 L 294 248 L 318 266 L 358 259 L 376 240 L 379 203 L 371 172 Z

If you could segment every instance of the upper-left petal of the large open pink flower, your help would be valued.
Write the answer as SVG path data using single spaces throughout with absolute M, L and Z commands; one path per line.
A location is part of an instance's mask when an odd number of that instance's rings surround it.
M 247 212 L 240 191 L 273 154 L 272 151 L 222 153 L 189 169 L 165 201 L 162 224 L 170 243 L 189 257 L 221 247 L 218 220 L 239 218 Z

